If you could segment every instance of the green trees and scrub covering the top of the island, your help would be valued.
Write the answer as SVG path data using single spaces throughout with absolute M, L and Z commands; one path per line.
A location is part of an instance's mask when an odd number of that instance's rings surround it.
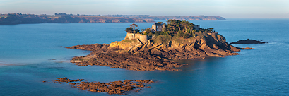
M 142 34 L 151 36 L 153 41 L 157 42 L 169 42 L 172 40 L 178 40 L 179 38 L 187 39 L 191 37 L 204 37 L 204 34 L 209 32 L 215 32 L 213 28 L 199 28 L 198 25 L 190 23 L 187 20 L 167 20 L 167 24 L 158 22 L 163 25 L 162 31 L 154 31 L 152 28 L 138 29 L 138 25 L 131 24 L 129 28 L 126 28 L 126 32 Z

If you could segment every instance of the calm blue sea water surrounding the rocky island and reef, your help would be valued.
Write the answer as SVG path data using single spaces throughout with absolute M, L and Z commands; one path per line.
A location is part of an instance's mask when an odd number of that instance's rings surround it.
M 156 80 L 151 88 L 128 95 L 289 95 L 289 19 L 228 19 L 190 21 L 215 28 L 227 42 L 254 39 L 266 44 L 237 56 L 184 60 L 182 71 L 128 71 L 105 66 L 76 66 L 73 56 L 85 51 L 66 49 L 77 44 L 123 40 L 131 23 L 66 23 L 0 25 L 0 95 L 108 95 L 42 83 L 59 77 L 110 82 L 125 79 Z M 153 23 L 136 23 L 149 28 Z M 56 60 L 49 60 L 56 59 Z

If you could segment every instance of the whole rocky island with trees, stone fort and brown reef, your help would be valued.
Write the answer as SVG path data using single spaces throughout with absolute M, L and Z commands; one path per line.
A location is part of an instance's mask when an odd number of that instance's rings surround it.
M 74 57 L 78 66 L 110 66 L 134 71 L 177 71 L 174 60 L 204 59 L 237 55 L 240 48 L 226 42 L 213 28 L 181 20 L 158 22 L 151 28 L 138 30 L 135 24 L 126 28 L 124 40 L 110 44 L 90 44 L 66 47 L 91 51 L 87 56 Z

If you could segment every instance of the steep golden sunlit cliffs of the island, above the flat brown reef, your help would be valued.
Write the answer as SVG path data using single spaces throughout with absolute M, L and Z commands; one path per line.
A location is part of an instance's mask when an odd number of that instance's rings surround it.
M 162 37 L 160 35 L 159 37 Z M 127 42 L 131 41 L 131 42 Z M 141 44 L 137 40 L 123 40 L 113 42 L 110 47 L 124 49 L 131 54 L 146 52 L 147 54 L 162 56 L 163 58 L 179 59 L 203 59 L 208 56 L 236 55 L 240 49 L 233 47 L 225 41 L 225 37 L 218 33 L 202 34 L 188 39 L 172 38 L 172 40 L 149 41 Z

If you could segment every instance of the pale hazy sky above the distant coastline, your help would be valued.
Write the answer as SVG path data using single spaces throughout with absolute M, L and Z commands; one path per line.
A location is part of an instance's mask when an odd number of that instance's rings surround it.
M 289 0 L 0 0 L 0 13 L 289 18 Z

